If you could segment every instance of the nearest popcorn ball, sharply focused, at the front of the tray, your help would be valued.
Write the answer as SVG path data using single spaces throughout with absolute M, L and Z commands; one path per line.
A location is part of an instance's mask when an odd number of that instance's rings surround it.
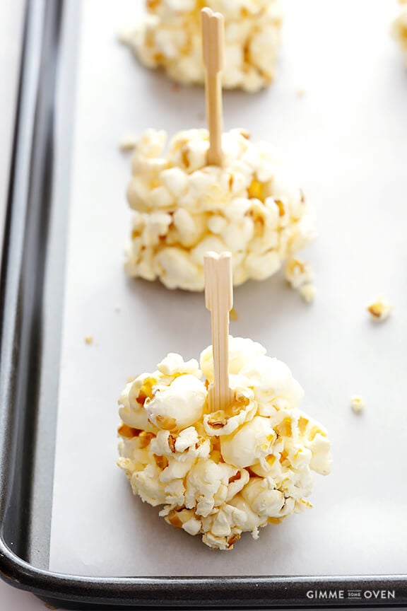
M 229 347 L 225 411 L 208 411 L 211 346 L 200 365 L 168 354 L 119 398 L 118 465 L 134 494 L 214 549 L 312 506 L 312 472 L 331 464 L 326 430 L 298 409 L 290 369 L 251 339 L 230 337 Z

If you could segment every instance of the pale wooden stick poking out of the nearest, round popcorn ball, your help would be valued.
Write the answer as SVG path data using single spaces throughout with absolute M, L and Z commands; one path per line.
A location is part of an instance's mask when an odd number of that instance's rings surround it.
M 228 410 L 232 400 L 229 387 L 229 313 L 233 307 L 232 259 L 230 252 L 205 255 L 205 300 L 211 310 L 213 384 L 209 387 L 209 409 Z

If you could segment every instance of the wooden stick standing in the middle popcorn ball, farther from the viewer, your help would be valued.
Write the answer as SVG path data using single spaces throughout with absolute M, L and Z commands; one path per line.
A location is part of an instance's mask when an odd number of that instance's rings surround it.
M 209 130 L 208 165 L 222 165 L 222 73 L 225 26 L 223 15 L 203 8 L 202 47 L 205 67 L 206 120 Z

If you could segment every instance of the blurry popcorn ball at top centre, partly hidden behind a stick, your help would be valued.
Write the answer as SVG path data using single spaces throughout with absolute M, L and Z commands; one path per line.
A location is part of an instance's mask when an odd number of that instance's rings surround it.
M 147 16 L 121 35 L 140 62 L 162 66 L 181 83 L 203 83 L 201 16 L 204 6 L 225 17 L 223 86 L 259 91 L 273 81 L 280 46 L 278 0 L 146 0 Z

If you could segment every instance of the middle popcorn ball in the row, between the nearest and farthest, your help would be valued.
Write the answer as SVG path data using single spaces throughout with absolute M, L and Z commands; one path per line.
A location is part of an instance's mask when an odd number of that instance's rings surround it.
M 315 235 L 302 191 L 285 180 L 273 148 L 242 129 L 223 134 L 224 165 L 206 165 L 208 132 L 138 139 L 127 197 L 134 209 L 125 271 L 168 289 L 204 290 L 204 254 L 232 253 L 233 284 L 264 280 Z

